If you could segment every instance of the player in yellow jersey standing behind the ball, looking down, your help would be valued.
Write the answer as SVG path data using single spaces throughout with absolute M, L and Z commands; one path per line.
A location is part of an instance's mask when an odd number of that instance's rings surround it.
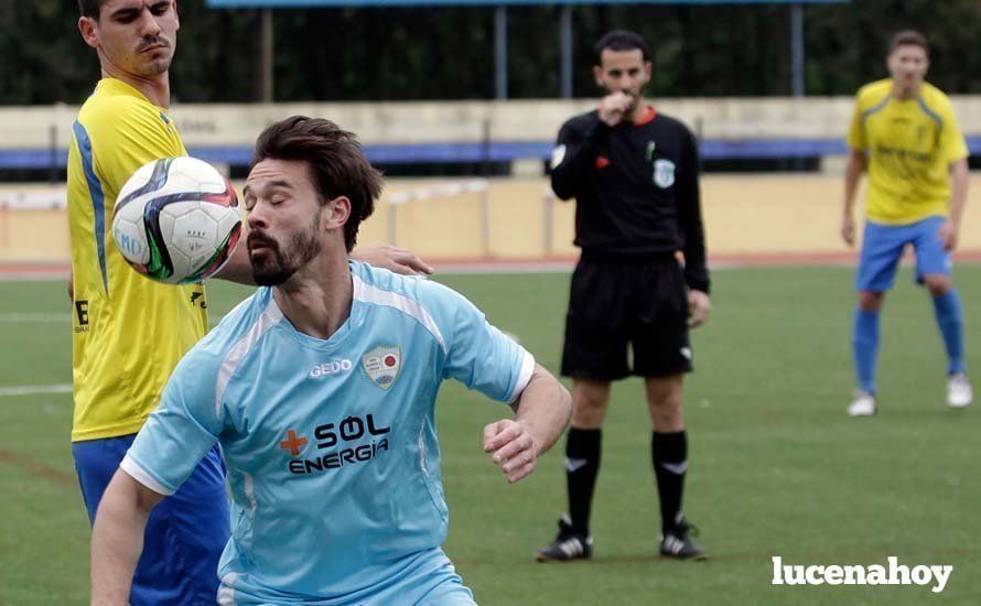
M 207 331 L 207 299 L 202 284 L 172 286 L 139 275 L 109 237 L 126 180 L 147 162 L 186 154 L 168 112 L 176 3 L 79 0 L 78 6 L 78 28 L 98 52 L 103 73 L 73 126 L 68 158 L 72 450 L 93 519 L 171 371 Z M 245 248 L 238 247 L 220 278 L 252 283 Z M 394 247 L 367 249 L 359 258 L 403 273 L 431 271 Z M 175 498 L 151 516 L 130 604 L 214 604 L 228 534 L 225 468 L 215 448 Z

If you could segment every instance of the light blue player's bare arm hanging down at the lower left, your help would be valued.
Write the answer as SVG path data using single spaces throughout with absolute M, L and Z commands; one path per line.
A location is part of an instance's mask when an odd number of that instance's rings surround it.
M 91 530 L 91 604 L 129 604 L 150 511 L 163 495 L 117 469 L 103 495 Z

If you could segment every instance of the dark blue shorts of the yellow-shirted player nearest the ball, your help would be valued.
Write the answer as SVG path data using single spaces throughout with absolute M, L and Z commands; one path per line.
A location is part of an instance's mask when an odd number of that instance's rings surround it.
M 89 521 L 136 434 L 72 444 Z M 150 513 L 130 604 L 215 604 L 218 560 L 230 534 L 225 463 L 212 448 L 181 489 Z

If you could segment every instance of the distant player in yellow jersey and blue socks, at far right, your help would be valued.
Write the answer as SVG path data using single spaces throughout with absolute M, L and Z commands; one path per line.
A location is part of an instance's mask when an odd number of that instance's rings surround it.
M 848 136 L 851 152 L 841 235 L 849 245 L 854 241 L 855 191 L 862 172 L 869 172 L 866 223 L 855 280 L 859 305 L 852 348 L 859 389 L 848 408 L 852 416 L 876 411 L 880 312 L 906 245 L 916 252 L 916 280 L 933 297 L 947 349 L 947 403 L 964 408 L 972 399 L 960 297 L 950 280 L 950 251 L 957 246 L 967 201 L 968 148 L 950 100 L 924 82 L 929 47 L 923 34 L 895 34 L 886 64 L 891 78 L 859 90 Z

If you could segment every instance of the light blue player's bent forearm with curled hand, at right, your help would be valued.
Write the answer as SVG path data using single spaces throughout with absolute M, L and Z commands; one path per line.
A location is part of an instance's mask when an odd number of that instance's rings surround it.
M 511 484 L 535 470 L 538 457 L 559 440 L 572 416 L 572 397 L 548 370 L 535 365 L 531 379 L 513 404 L 515 419 L 484 428 L 484 452 Z

